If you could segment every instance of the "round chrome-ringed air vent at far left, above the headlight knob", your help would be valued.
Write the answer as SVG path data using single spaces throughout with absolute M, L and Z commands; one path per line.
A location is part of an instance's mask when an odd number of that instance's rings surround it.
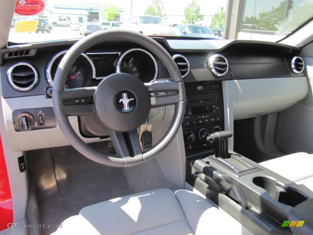
M 18 63 L 8 69 L 8 82 L 17 91 L 30 91 L 38 83 L 38 73 L 33 65 Z

